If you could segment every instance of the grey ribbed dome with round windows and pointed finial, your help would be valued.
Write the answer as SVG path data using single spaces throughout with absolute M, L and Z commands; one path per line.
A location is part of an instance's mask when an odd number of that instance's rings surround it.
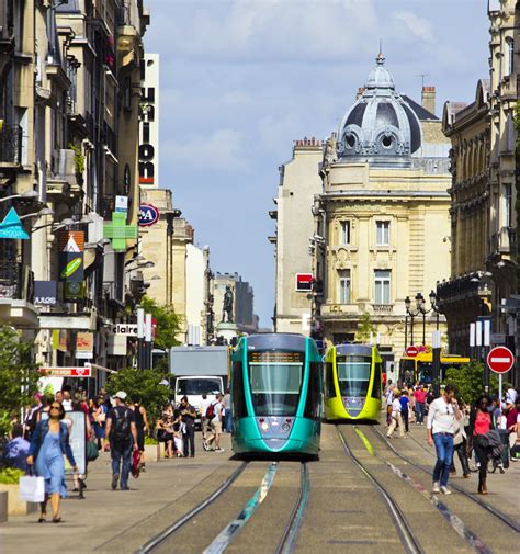
M 421 146 L 419 118 L 395 91 L 382 54 L 376 63 L 362 94 L 341 122 L 338 156 L 340 160 L 408 165 Z

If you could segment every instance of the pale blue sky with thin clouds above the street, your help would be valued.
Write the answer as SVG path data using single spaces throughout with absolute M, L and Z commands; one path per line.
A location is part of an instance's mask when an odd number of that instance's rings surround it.
M 145 0 L 160 55 L 160 182 L 210 246 L 214 272 L 274 306 L 279 167 L 294 140 L 336 131 L 383 45 L 398 92 L 472 102 L 488 78 L 485 0 Z

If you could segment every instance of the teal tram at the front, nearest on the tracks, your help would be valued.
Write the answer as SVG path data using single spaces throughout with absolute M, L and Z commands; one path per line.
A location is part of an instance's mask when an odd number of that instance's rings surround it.
M 321 359 L 313 339 L 242 337 L 231 354 L 230 396 L 236 454 L 318 454 Z

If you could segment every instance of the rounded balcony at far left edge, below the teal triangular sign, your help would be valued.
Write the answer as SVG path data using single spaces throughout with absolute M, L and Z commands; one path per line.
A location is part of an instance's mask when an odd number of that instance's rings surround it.
M 0 324 L 37 327 L 33 295 L 34 275 L 29 265 L 0 259 Z

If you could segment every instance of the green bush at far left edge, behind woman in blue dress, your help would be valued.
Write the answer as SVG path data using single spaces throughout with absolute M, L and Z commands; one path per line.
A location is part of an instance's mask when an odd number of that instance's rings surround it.
M 38 378 L 33 342 L 22 340 L 12 327 L 1 327 L 0 437 L 10 430 L 12 416 L 33 400 Z

